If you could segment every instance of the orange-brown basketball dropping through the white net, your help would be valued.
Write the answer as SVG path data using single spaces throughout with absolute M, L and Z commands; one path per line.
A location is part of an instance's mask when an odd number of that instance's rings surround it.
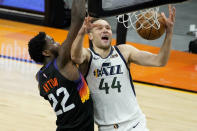
M 136 22 L 137 33 L 146 40 L 155 40 L 160 38 L 165 32 L 165 21 L 160 13 L 157 14 L 158 22 L 153 19 L 153 12 L 147 12 L 142 16 L 138 16 Z M 160 24 L 160 27 L 159 27 Z

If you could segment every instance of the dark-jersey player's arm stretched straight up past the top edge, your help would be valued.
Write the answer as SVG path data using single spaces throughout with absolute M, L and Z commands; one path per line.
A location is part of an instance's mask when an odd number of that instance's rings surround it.
M 69 29 L 66 40 L 62 43 L 59 49 L 59 56 L 57 58 L 57 64 L 59 68 L 71 60 L 70 50 L 74 39 L 77 36 L 83 20 L 85 18 L 85 0 L 73 0 L 71 9 L 71 26 Z

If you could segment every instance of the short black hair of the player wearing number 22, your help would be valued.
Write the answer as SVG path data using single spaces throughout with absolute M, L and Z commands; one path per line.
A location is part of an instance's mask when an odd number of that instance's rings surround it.
M 38 35 L 33 37 L 28 44 L 28 51 L 31 59 L 33 59 L 35 62 L 43 63 L 44 62 L 44 55 L 42 54 L 42 51 L 46 45 L 46 33 L 45 32 L 39 32 Z

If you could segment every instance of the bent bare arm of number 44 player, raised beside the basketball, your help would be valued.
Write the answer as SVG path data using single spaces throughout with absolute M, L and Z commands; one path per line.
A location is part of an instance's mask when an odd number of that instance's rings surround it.
M 162 16 L 165 20 L 166 36 L 159 53 L 153 54 L 150 52 L 141 51 L 129 45 L 119 46 L 119 49 L 122 50 L 128 64 L 133 62 L 143 66 L 166 65 L 172 45 L 173 27 L 175 22 L 175 8 L 172 8 L 171 5 L 169 5 L 169 18 L 166 18 L 164 13 L 162 13 Z

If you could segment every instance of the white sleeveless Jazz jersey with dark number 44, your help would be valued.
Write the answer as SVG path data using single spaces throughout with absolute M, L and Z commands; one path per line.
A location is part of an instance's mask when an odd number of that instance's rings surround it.
M 111 125 L 144 117 L 136 100 L 129 68 L 117 47 L 101 58 L 93 50 L 86 80 L 94 103 L 95 122 Z

